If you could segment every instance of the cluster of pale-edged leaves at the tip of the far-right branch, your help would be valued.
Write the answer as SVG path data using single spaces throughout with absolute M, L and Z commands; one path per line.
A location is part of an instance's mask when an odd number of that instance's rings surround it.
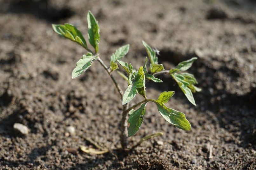
M 174 69 L 171 69 L 169 71 L 170 75 L 178 83 L 179 88 L 185 94 L 187 99 L 195 106 L 196 103 L 192 92 L 194 93 L 196 91 L 201 91 L 200 88 L 194 86 L 194 84 L 198 84 L 198 82 L 196 81 L 195 77 L 192 74 L 178 72 L 188 70 L 196 59 L 197 58 L 194 57 L 189 60 L 180 62 Z

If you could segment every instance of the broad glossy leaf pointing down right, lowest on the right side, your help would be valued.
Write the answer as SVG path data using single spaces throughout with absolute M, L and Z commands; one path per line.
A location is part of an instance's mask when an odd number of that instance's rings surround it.
M 186 119 L 184 113 L 171 109 L 164 104 L 157 103 L 157 108 L 161 116 L 170 124 L 185 131 L 189 131 L 191 129 L 191 125 Z

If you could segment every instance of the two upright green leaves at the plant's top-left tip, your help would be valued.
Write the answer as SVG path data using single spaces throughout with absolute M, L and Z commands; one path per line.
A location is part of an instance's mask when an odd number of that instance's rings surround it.
M 98 21 L 96 21 L 91 11 L 89 11 L 87 14 L 87 21 L 88 21 L 88 40 L 91 46 L 94 47 L 95 53 L 97 53 L 98 44 L 100 42 L 99 26 L 98 26 Z M 67 23 L 64 25 L 52 24 L 52 28 L 56 33 L 60 34 L 64 38 L 75 41 L 79 45 L 83 46 L 86 50 L 89 50 L 82 33 L 79 30 L 77 30 L 75 26 Z

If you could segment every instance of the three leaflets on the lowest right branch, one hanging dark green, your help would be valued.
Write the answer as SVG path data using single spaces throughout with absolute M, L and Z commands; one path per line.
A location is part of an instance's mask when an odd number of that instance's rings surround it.
M 168 91 L 168 92 L 164 91 L 159 95 L 157 100 L 149 99 L 148 101 L 152 101 L 156 103 L 158 112 L 167 122 L 178 127 L 179 129 L 188 131 L 191 129 L 191 125 L 186 119 L 185 114 L 177 110 L 171 109 L 165 106 L 164 104 L 170 100 L 173 94 L 174 94 L 173 91 Z M 135 135 L 135 133 L 139 130 L 144 120 L 145 106 L 148 101 L 141 104 L 140 108 L 138 108 L 137 110 L 132 109 L 129 112 L 130 117 L 128 119 L 128 123 L 130 123 L 130 126 L 128 129 L 128 137 Z

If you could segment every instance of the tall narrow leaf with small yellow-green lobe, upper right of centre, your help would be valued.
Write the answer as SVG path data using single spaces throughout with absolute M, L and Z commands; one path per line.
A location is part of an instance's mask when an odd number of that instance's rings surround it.
M 142 43 L 150 59 L 150 72 L 153 74 L 164 70 L 163 64 L 158 64 L 158 57 L 156 57 L 156 52 L 152 50 L 152 48 L 145 41 L 142 41 Z

